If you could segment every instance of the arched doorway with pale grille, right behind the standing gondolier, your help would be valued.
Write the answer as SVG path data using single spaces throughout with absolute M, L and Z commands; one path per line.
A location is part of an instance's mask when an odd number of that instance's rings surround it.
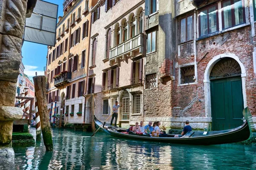
M 127 90 L 123 91 L 120 96 L 121 107 L 121 120 L 130 120 L 130 94 Z

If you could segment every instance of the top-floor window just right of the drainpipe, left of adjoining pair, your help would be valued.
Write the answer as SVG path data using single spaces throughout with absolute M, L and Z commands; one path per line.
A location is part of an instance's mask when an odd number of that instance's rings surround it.
M 199 36 L 218 31 L 218 8 L 210 6 L 199 13 Z

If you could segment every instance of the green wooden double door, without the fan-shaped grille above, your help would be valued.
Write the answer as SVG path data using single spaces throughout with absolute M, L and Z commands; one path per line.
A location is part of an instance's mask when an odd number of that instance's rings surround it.
M 244 109 L 241 77 L 211 80 L 212 130 L 240 126 Z

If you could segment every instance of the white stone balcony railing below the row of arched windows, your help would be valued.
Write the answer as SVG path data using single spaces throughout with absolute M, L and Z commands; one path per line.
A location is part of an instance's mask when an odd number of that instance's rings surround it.
M 137 49 L 140 49 L 140 52 L 143 52 L 143 34 L 142 33 L 111 48 L 110 59 L 122 56 L 124 54 L 128 54 L 129 52 Z

